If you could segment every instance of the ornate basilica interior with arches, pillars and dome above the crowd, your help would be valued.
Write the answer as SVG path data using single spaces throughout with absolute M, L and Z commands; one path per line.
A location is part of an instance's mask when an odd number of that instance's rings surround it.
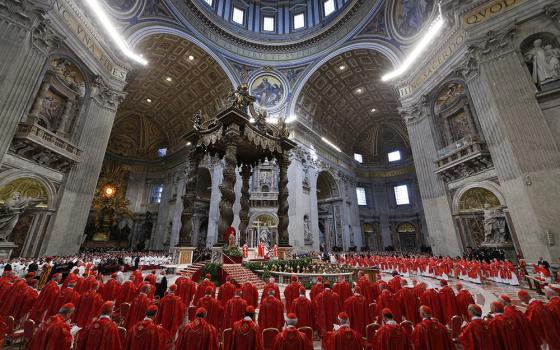
M 0 254 L 560 255 L 553 0 L 1 0 Z M 217 131 L 216 131 L 217 130 Z

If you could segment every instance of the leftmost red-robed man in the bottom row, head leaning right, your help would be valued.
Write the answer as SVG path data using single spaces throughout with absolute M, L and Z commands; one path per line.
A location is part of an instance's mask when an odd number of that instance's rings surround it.
M 27 349 L 70 350 L 72 348 L 72 334 L 67 321 L 72 317 L 74 309 L 74 304 L 64 304 L 57 315 L 51 316 L 41 323 Z

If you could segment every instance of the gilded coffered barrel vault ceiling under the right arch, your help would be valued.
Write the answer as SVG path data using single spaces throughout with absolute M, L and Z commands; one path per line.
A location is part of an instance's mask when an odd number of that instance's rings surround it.
M 304 124 L 351 153 L 364 130 L 387 121 L 401 124 L 396 92 L 381 82 L 391 68 L 389 60 L 373 50 L 336 56 L 309 78 L 295 112 Z

